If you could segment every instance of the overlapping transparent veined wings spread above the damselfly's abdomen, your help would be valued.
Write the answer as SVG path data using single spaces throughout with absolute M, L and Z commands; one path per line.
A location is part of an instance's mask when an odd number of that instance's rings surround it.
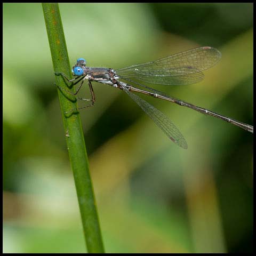
M 117 69 L 123 79 L 138 79 L 146 83 L 165 85 L 193 84 L 204 78 L 203 70 L 215 65 L 221 53 L 210 46 L 198 47 L 168 57 Z

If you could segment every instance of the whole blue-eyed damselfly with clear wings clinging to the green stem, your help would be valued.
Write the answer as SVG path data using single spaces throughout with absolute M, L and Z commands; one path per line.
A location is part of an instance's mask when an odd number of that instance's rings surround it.
M 141 82 L 162 85 L 185 85 L 198 83 L 204 78 L 202 71 L 215 65 L 215 63 L 217 63 L 220 58 L 221 53 L 217 49 L 209 46 L 198 47 L 155 61 L 150 61 L 139 65 L 132 65 L 130 67 L 117 70 L 111 68 L 90 68 L 86 66 L 85 59 L 80 58 L 77 59 L 76 65 L 72 68 L 72 73 L 74 76 L 76 76 L 76 78 L 69 80 L 62 73 L 55 74 L 62 75 L 67 79 L 67 81 L 74 82 L 74 84 L 82 81 L 74 94 L 69 92 L 73 95 L 76 95 L 81 89 L 84 81 L 88 80 L 92 97 L 90 100 L 91 104 L 89 106 L 93 106 L 95 102 L 95 95 L 91 82 L 108 84 L 123 90 L 148 114 L 151 119 L 153 119 L 153 121 L 163 130 L 167 137 L 169 137 L 174 143 L 177 143 L 177 145 L 180 147 L 186 149 L 188 145 L 185 138 L 179 129 L 170 121 L 170 119 L 167 118 L 161 111 L 150 105 L 147 101 L 141 99 L 138 95 L 132 92 L 140 92 L 155 98 L 171 101 L 180 106 L 194 109 L 200 113 L 220 118 L 223 121 L 229 122 L 253 133 L 252 125 L 236 121 L 235 119 L 222 116 L 185 101 L 169 97 L 162 92 L 141 84 Z M 130 84 L 122 82 L 121 80 L 142 86 L 146 88 L 146 90 L 141 90 Z M 61 90 L 65 90 L 60 86 L 59 88 Z

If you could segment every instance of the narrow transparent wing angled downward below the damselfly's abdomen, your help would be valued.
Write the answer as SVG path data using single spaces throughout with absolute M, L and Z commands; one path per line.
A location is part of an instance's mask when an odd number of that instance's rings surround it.
M 123 90 L 146 112 L 159 128 L 178 146 L 187 149 L 188 145 L 179 129 L 161 111 L 150 105 L 147 101 L 130 92 L 122 82 Z

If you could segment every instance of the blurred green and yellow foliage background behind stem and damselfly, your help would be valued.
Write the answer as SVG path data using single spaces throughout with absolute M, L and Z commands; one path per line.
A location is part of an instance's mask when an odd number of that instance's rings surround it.
M 70 65 L 216 47 L 203 82 L 155 88 L 253 124 L 252 3 L 59 6 Z M 4 253 L 86 252 L 54 81 L 41 4 L 4 3 Z M 94 92 L 81 118 L 106 252 L 252 252 L 253 135 L 142 95 L 179 127 L 184 150 L 122 91 Z

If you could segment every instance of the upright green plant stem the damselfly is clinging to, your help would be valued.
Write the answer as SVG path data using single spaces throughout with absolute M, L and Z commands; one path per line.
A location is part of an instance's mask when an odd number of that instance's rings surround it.
M 71 78 L 65 36 L 57 3 L 43 3 L 43 12 L 49 39 L 53 68 L 55 72 L 67 74 Z M 67 87 L 62 76 L 55 76 L 57 85 Z M 74 92 L 74 89 L 71 91 Z M 70 101 L 58 90 L 65 128 L 65 137 L 71 167 L 73 169 L 79 208 L 82 217 L 85 241 L 89 253 L 103 253 L 97 207 L 90 178 L 89 163 L 85 148 L 83 130 L 79 114 L 65 116 L 65 111 L 77 109 L 76 101 Z

